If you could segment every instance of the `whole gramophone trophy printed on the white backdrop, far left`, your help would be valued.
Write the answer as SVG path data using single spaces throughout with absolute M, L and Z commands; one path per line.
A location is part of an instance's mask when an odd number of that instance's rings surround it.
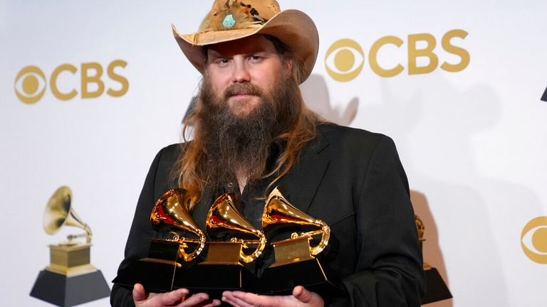
M 38 274 L 31 296 L 57 306 L 74 306 L 110 296 L 103 274 L 90 264 L 91 230 L 72 208 L 72 191 L 58 188 L 43 214 L 43 228 L 53 235 L 61 227 L 73 226 L 85 234 L 68 235 L 66 242 L 49 245 L 50 264 Z M 85 243 L 78 240 L 85 237 Z

